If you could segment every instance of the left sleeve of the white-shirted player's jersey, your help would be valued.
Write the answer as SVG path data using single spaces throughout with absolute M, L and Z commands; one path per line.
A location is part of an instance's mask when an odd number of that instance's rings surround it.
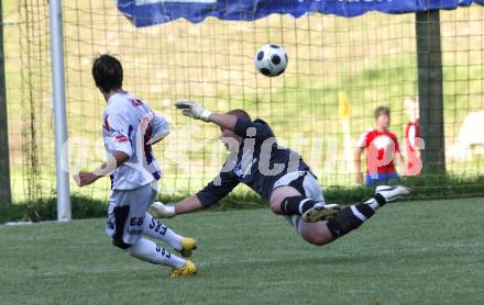
M 108 133 L 105 138 L 106 147 L 110 150 L 122 151 L 131 157 L 133 155 L 131 139 L 133 126 L 129 125 L 120 114 L 106 114 L 105 125 Z

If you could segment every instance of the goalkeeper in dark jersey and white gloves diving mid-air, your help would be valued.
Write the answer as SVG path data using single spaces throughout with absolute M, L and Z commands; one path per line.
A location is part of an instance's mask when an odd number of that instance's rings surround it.
M 239 183 L 244 183 L 284 215 L 308 242 L 322 246 L 360 227 L 376 210 L 409 193 L 405 187 L 381 187 L 364 203 L 342 208 L 324 204 L 316 176 L 300 156 L 277 145 L 271 127 L 262 120 L 252 121 L 243 110 L 212 113 L 191 101 L 176 103 L 183 114 L 215 123 L 229 158 L 220 174 L 205 189 L 174 205 L 155 202 L 155 215 L 173 217 L 216 204 Z

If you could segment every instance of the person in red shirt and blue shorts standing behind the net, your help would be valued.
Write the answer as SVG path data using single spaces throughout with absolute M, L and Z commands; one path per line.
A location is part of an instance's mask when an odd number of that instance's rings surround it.
M 389 128 L 389 109 L 378 106 L 375 109 L 376 128 L 364 132 L 356 144 L 354 152 L 354 169 L 356 183 L 363 183 L 361 172 L 361 155 L 366 149 L 366 179 L 365 184 L 387 185 L 399 181 L 394 160 L 404 163 L 397 136 Z

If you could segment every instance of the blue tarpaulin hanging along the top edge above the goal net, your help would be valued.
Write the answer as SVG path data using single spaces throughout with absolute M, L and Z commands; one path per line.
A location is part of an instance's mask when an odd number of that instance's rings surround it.
M 268 14 L 295 18 L 320 12 L 356 16 L 371 11 L 409 13 L 455 9 L 484 0 L 118 0 L 118 9 L 136 26 L 147 26 L 185 18 L 201 22 L 207 16 L 251 21 Z

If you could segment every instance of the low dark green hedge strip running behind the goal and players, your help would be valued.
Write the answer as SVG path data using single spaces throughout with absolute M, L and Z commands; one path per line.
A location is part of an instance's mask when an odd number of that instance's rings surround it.
M 438 200 L 464 196 L 484 196 L 484 177 L 474 179 L 459 179 L 452 177 L 411 177 L 404 179 L 403 184 L 414 189 L 407 200 Z M 350 204 L 360 202 L 373 194 L 373 189 L 363 187 L 332 187 L 324 188 L 327 202 Z M 185 194 L 160 195 L 162 202 L 177 202 Z M 223 199 L 210 211 L 262 208 L 267 204 L 255 193 L 235 193 Z M 72 196 L 73 218 L 105 217 L 108 201 L 94 200 L 86 196 Z M 56 199 L 45 199 L 36 202 L 13 204 L 0 208 L 0 223 L 12 221 L 52 221 L 57 217 Z

